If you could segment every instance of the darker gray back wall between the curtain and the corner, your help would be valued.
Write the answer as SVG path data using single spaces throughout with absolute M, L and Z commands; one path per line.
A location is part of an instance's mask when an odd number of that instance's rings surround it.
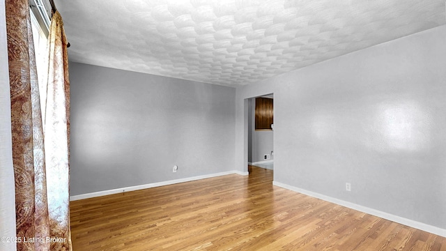
M 73 62 L 70 84 L 70 195 L 234 170 L 236 89 Z

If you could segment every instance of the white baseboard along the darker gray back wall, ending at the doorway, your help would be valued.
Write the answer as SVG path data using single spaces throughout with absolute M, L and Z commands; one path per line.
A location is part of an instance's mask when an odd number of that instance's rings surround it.
M 162 185 L 172 185 L 172 184 L 176 184 L 176 183 L 183 183 L 183 182 L 187 182 L 187 181 L 197 181 L 203 178 L 213 178 L 213 177 L 217 177 L 217 176 L 223 176 L 223 175 L 228 175 L 228 174 L 239 174 L 239 175 L 249 175 L 249 172 L 240 172 L 240 171 L 229 171 L 229 172 L 220 172 L 217 174 L 206 174 L 206 175 L 201 175 L 201 176 L 194 176 L 194 177 L 189 177 L 189 178 L 178 178 L 176 180 L 172 180 L 172 181 L 162 181 L 162 182 L 157 182 L 157 183 L 150 183 L 150 184 L 144 184 L 144 185 L 133 185 L 127 188 L 115 188 L 112 190 L 105 190 L 105 191 L 99 191 L 99 192 L 89 192 L 83 195 L 72 195 L 70 196 L 70 201 L 76 201 L 79 199 L 89 199 L 89 198 L 93 198 L 93 197 L 100 197 L 100 196 L 105 196 L 105 195 L 114 195 L 120 192 L 130 192 L 130 191 L 134 191 L 134 190 L 141 190 L 141 189 L 146 189 L 146 188 L 155 188 L 155 187 L 159 187 Z

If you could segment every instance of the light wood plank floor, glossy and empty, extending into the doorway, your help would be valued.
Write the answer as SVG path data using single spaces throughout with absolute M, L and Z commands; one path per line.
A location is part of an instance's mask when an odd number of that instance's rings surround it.
M 446 250 L 446 238 L 272 185 L 272 170 L 72 201 L 75 251 Z

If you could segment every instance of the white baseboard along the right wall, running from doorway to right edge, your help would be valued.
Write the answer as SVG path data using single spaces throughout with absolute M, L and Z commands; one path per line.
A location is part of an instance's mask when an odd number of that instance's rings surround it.
M 354 203 L 351 203 L 351 202 L 348 202 L 348 201 L 343 201 L 341 199 L 336 199 L 336 198 L 329 197 L 329 196 L 326 196 L 326 195 L 321 195 L 321 194 L 318 194 L 317 192 L 311 192 L 311 191 L 304 190 L 304 189 L 301 189 L 301 188 L 296 188 L 296 187 L 293 187 L 292 185 L 286 185 L 284 183 L 280 183 L 280 182 L 277 182 L 277 181 L 272 181 L 272 185 L 277 185 L 277 186 L 279 186 L 281 188 L 292 190 L 294 192 L 300 192 L 301 194 L 304 194 L 304 195 L 308 195 L 308 196 L 311 196 L 311 197 L 322 199 L 324 201 L 329 201 L 329 202 L 332 202 L 334 204 L 338 204 L 338 205 L 341 205 L 341 206 L 346 206 L 348 208 L 352 208 L 352 209 L 355 209 L 357 211 L 361 211 L 363 213 L 368 213 L 370 215 L 375 215 L 375 216 L 377 216 L 379 218 L 383 218 L 383 219 L 386 219 L 386 220 L 391 220 L 392 222 L 397 222 L 397 223 L 400 223 L 402 225 L 406 225 L 408 227 L 413 227 L 413 228 L 416 228 L 416 229 L 427 231 L 427 232 L 432 233 L 432 234 L 436 234 L 438 236 L 446 237 L 446 229 L 442 229 L 440 227 L 427 225 L 427 224 L 422 223 L 422 222 L 417 222 L 415 220 L 410 220 L 410 219 L 403 218 L 403 217 L 400 217 L 400 216 L 397 216 L 397 215 L 392 215 L 390 213 L 385 213 L 383 211 L 378 211 L 378 210 L 373 209 L 373 208 L 368 208 L 367 206 L 360 206 L 358 204 L 354 204 Z

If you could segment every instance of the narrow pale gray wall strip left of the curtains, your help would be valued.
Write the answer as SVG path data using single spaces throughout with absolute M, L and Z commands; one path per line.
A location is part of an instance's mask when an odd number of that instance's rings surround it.
M 15 236 L 15 183 L 5 18 L 5 1 L 0 1 L 0 236 Z M 0 250 L 16 250 L 15 243 L 0 242 Z

